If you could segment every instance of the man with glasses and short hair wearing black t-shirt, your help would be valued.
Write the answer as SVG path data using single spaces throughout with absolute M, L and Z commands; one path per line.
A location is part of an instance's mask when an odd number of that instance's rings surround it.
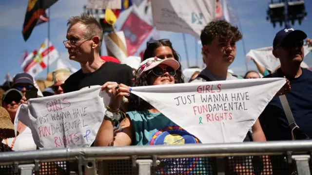
M 105 62 L 100 58 L 99 50 L 103 40 L 103 31 L 92 16 L 82 14 L 68 20 L 67 40 L 64 41 L 69 59 L 80 63 L 81 69 L 73 73 L 62 86 L 63 92 L 72 92 L 81 88 L 117 82 L 131 86 L 132 68 L 125 64 Z

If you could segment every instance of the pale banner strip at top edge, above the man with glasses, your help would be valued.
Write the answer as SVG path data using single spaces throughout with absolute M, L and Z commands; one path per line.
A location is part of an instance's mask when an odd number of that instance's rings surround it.
M 88 0 L 88 9 L 121 9 L 121 0 Z

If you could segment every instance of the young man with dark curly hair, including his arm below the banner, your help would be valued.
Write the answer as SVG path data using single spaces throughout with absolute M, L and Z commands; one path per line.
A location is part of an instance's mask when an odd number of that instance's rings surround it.
M 225 20 L 215 20 L 205 26 L 201 31 L 200 40 L 203 45 L 201 53 L 206 68 L 192 82 L 238 79 L 228 73 L 228 68 L 236 56 L 236 42 L 242 37 L 238 28 Z M 248 131 L 244 141 L 266 141 L 258 120 L 254 123 L 251 131 Z M 244 158 L 242 160 L 234 158 L 231 161 L 237 165 L 236 167 L 245 165 Z M 246 159 L 246 161 L 248 160 Z M 232 167 L 234 168 L 232 171 L 237 171 L 236 167 Z M 251 171 L 253 170 L 251 169 Z

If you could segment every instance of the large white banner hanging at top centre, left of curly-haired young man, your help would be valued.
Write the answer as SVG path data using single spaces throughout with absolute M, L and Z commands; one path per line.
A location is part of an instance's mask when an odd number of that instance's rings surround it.
M 191 34 L 199 38 L 201 30 L 215 19 L 215 0 L 152 0 L 157 30 Z

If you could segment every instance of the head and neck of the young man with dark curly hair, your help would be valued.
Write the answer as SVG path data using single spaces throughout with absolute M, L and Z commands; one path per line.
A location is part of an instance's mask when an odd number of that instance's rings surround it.
M 207 66 L 200 75 L 211 81 L 237 79 L 228 74 L 228 68 L 236 55 L 236 42 L 242 37 L 238 28 L 225 20 L 210 22 L 200 35 L 203 61 Z

